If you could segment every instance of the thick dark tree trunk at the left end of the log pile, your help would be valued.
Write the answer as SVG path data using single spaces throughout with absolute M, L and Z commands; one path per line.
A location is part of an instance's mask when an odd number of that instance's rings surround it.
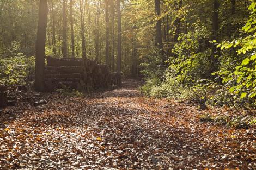
M 35 90 L 44 91 L 45 42 L 47 28 L 47 0 L 40 0 L 35 52 Z

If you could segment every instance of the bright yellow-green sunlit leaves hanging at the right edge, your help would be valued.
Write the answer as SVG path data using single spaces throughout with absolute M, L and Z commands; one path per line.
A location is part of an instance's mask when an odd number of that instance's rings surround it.
M 249 20 L 242 28 L 242 31 L 247 34 L 245 37 L 235 39 L 231 42 L 223 42 L 218 45 L 222 50 L 235 48 L 237 55 L 240 55 L 242 61 L 240 65 L 232 70 L 222 68 L 215 74 L 220 75 L 223 79 L 222 83 L 233 94 L 234 99 L 247 100 L 249 103 L 254 103 L 256 98 L 256 9 L 255 2 L 249 6 L 252 11 Z

